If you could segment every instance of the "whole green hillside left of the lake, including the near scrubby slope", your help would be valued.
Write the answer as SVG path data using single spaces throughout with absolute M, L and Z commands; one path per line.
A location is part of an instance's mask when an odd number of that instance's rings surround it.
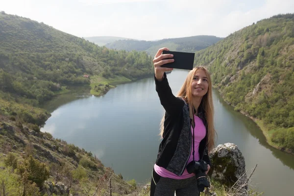
M 50 114 L 39 106 L 70 86 L 102 95 L 110 84 L 150 76 L 151 57 L 4 12 L 0 43 L 0 195 L 136 194 L 134 180 L 124 181 L 91 152 L 40 132 Z

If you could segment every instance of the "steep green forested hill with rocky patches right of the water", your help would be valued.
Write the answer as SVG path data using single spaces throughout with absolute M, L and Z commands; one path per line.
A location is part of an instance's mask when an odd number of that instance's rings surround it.
M 236 110 L 253 117 L 271 145 L 294 152 L 294 14 L 247 26 L 196 52 Z

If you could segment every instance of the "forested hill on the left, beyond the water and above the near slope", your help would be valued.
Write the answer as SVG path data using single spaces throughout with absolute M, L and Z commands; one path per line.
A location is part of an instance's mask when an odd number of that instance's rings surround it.
M 153 72 L 146 52 L 98 47 L 49 25 L 4 12 L 0 13 L 0 43 L 0 98 L 32 105 L 61 93 L 65 90 L 62 86 L 90 85 L 85 74 L 92 83 L 94 75 L 115 81 Z M 98 94 L 109 88 L 100 85 L 94 85 Z

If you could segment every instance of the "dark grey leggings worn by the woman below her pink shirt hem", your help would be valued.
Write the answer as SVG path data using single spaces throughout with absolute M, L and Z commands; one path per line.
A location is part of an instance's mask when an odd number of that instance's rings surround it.
M 199 196 L 196 178 L 182 180 L 165 178 L 152 171 L 150 196 Z

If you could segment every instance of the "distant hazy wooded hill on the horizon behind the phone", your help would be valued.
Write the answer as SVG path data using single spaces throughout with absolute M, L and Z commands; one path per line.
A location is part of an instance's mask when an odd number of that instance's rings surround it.
M 150 55 L 154 56 L 159 48 L 167 47 L 176 51 L 195 52 L 200 49 L 205 49 L 221 39 L 216 36 L 200 35 L 159 41 L 118 40 L 105 46 L 110 49 L 147 51 Z

